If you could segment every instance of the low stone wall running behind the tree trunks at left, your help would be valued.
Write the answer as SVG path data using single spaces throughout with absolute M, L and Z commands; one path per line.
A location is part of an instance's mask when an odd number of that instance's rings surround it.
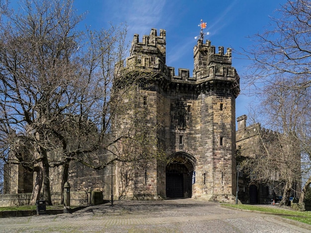
M 29 205 L 30 199 L 31 193 L 2 194 L 0 195 L 0 207 Z M 40 199 L 43 199 L 42 195 Z M 53 205 L 60 205 L 61 193 L 51 193 L 51 200 Z M 70 205 L 87 205 L 86 191 L 70 192 Z

